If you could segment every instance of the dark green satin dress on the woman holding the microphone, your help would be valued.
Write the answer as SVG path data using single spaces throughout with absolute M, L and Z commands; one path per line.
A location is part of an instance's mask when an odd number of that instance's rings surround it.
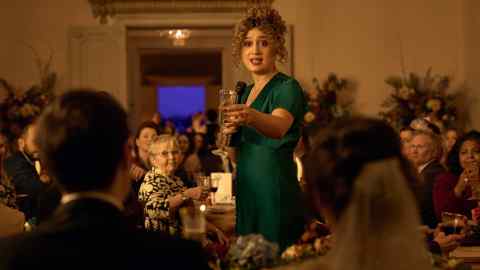
M 252 87 L 245 89 L 241 103 L 246 102 Z M 262 234 L 284 250 L 304 230 L 305 208 L 293 151 L 301 136 L 306 100 L 295 79 L 277 73 L 250 106 L 268 114 L 283 108 L 294 121 L 282 139 L 267 138 L 245 126 L 233 136 L 238 161 L 236 230 L 239 235 Z

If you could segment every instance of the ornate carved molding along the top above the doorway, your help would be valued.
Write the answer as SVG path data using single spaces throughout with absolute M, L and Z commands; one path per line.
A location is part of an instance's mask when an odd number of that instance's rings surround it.
M 108 17 L 158 13 L 240 13 L 251 5 L 271 5 L 274 0 L 88 0 L 101 24 Z

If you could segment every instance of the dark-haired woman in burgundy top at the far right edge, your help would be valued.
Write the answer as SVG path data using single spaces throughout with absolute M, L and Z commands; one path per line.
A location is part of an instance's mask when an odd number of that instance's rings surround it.
M 472 196 L 470 183 L 479 181 L 480 133 L 472 130 L 462 136 L 452 147 L 447 157 L 448 172 L 437 177 L 433 189 L 433 203 L 438 218 L 442 212 L 471 216 L 470 210 L 477 206 Z

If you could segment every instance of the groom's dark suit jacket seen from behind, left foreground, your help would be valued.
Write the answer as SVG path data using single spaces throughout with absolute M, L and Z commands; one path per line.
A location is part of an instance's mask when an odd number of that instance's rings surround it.
M 36 232 L 0 240 L 0 254 L 0 269 L 209 269 L 200 245 L 135 230 L 99 200 L 62 205 Z

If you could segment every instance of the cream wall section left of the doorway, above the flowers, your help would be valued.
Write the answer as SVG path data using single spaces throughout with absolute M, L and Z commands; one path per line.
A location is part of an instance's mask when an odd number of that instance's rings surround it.
M 68 27 L 95 24 L 86 0 L 0 1 L 0 77 L 19 87 L 36 83 L 33 57 L 23 44 L 35 47 L 42 57 L 51 47 L 61 89 L 67 77 Z

